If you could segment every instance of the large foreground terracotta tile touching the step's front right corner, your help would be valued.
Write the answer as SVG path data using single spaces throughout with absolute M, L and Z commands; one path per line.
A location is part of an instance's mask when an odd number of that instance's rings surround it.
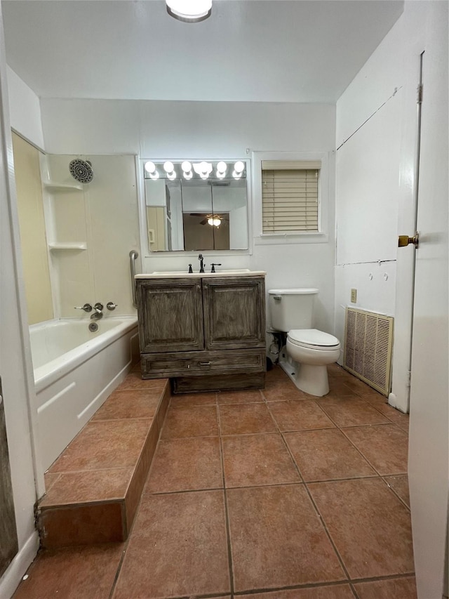
M 222 491 L 147 496 L 114 599 L 229 593 L 226 538 Z

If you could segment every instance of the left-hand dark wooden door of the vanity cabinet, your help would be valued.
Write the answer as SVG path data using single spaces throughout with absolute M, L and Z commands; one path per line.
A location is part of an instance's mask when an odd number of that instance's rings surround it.
M 142 353 L 204 349 L 201 279 L 137 279 Z

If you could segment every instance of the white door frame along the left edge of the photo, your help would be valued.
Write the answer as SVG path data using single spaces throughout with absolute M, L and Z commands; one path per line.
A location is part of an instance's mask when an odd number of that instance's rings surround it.
M 8 469 L 4 469 L 6 460 L 11 470 L 11 486 L 7 485 L 7 489 L 5 487 L 4 501 L 0 501 L 0 504 L 4 503 L 0 505 L 0 518 L 3 519 L 5 514 L 8 514 L 8 527 L 5 529 L 6 522 L 2 520 L 0 528 L 0 537 L 7 537 L 1 539 L 0 552 L 5 547 L 8 551 L 8 560 L 0 567 L 1 598 L 13 594 L 39 548 L 39 537 L 34 527 L 36 488 L 30 428 L 32 414 L 28 402 L 29 391 L 34 381 L 30 374 L 31 358 L 27 347 L 27 323 L 20 275 L 18 216 L 13 189 L 11 129 L 4 57 L 0 12 L 0 375 L 3 395 L 0 421 L 4 416 L 5 425 L 0 428 L 6 428 L 8 440 L 7 458 L 4 453 L 5 437 L 0 449 L 0 477 L 8 475 Z M 40 478 L 42 479 L 42 475 Z M 43 487 L 43 480 L 41 486 Z M 13 560 L 7 563 L 10 558 Z

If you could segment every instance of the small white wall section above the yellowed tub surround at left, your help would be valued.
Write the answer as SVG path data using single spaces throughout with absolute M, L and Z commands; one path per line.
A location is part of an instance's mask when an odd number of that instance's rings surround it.
M 43 149 L 39 98 L 10 67 L 7 67 L 7 71 L 11 127 Z

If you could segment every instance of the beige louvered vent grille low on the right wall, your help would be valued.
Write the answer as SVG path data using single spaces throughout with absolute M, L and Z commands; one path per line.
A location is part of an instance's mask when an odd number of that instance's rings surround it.
M 346 308 L 344 367 L 385 396 L 390 391 L 393 318 Z

